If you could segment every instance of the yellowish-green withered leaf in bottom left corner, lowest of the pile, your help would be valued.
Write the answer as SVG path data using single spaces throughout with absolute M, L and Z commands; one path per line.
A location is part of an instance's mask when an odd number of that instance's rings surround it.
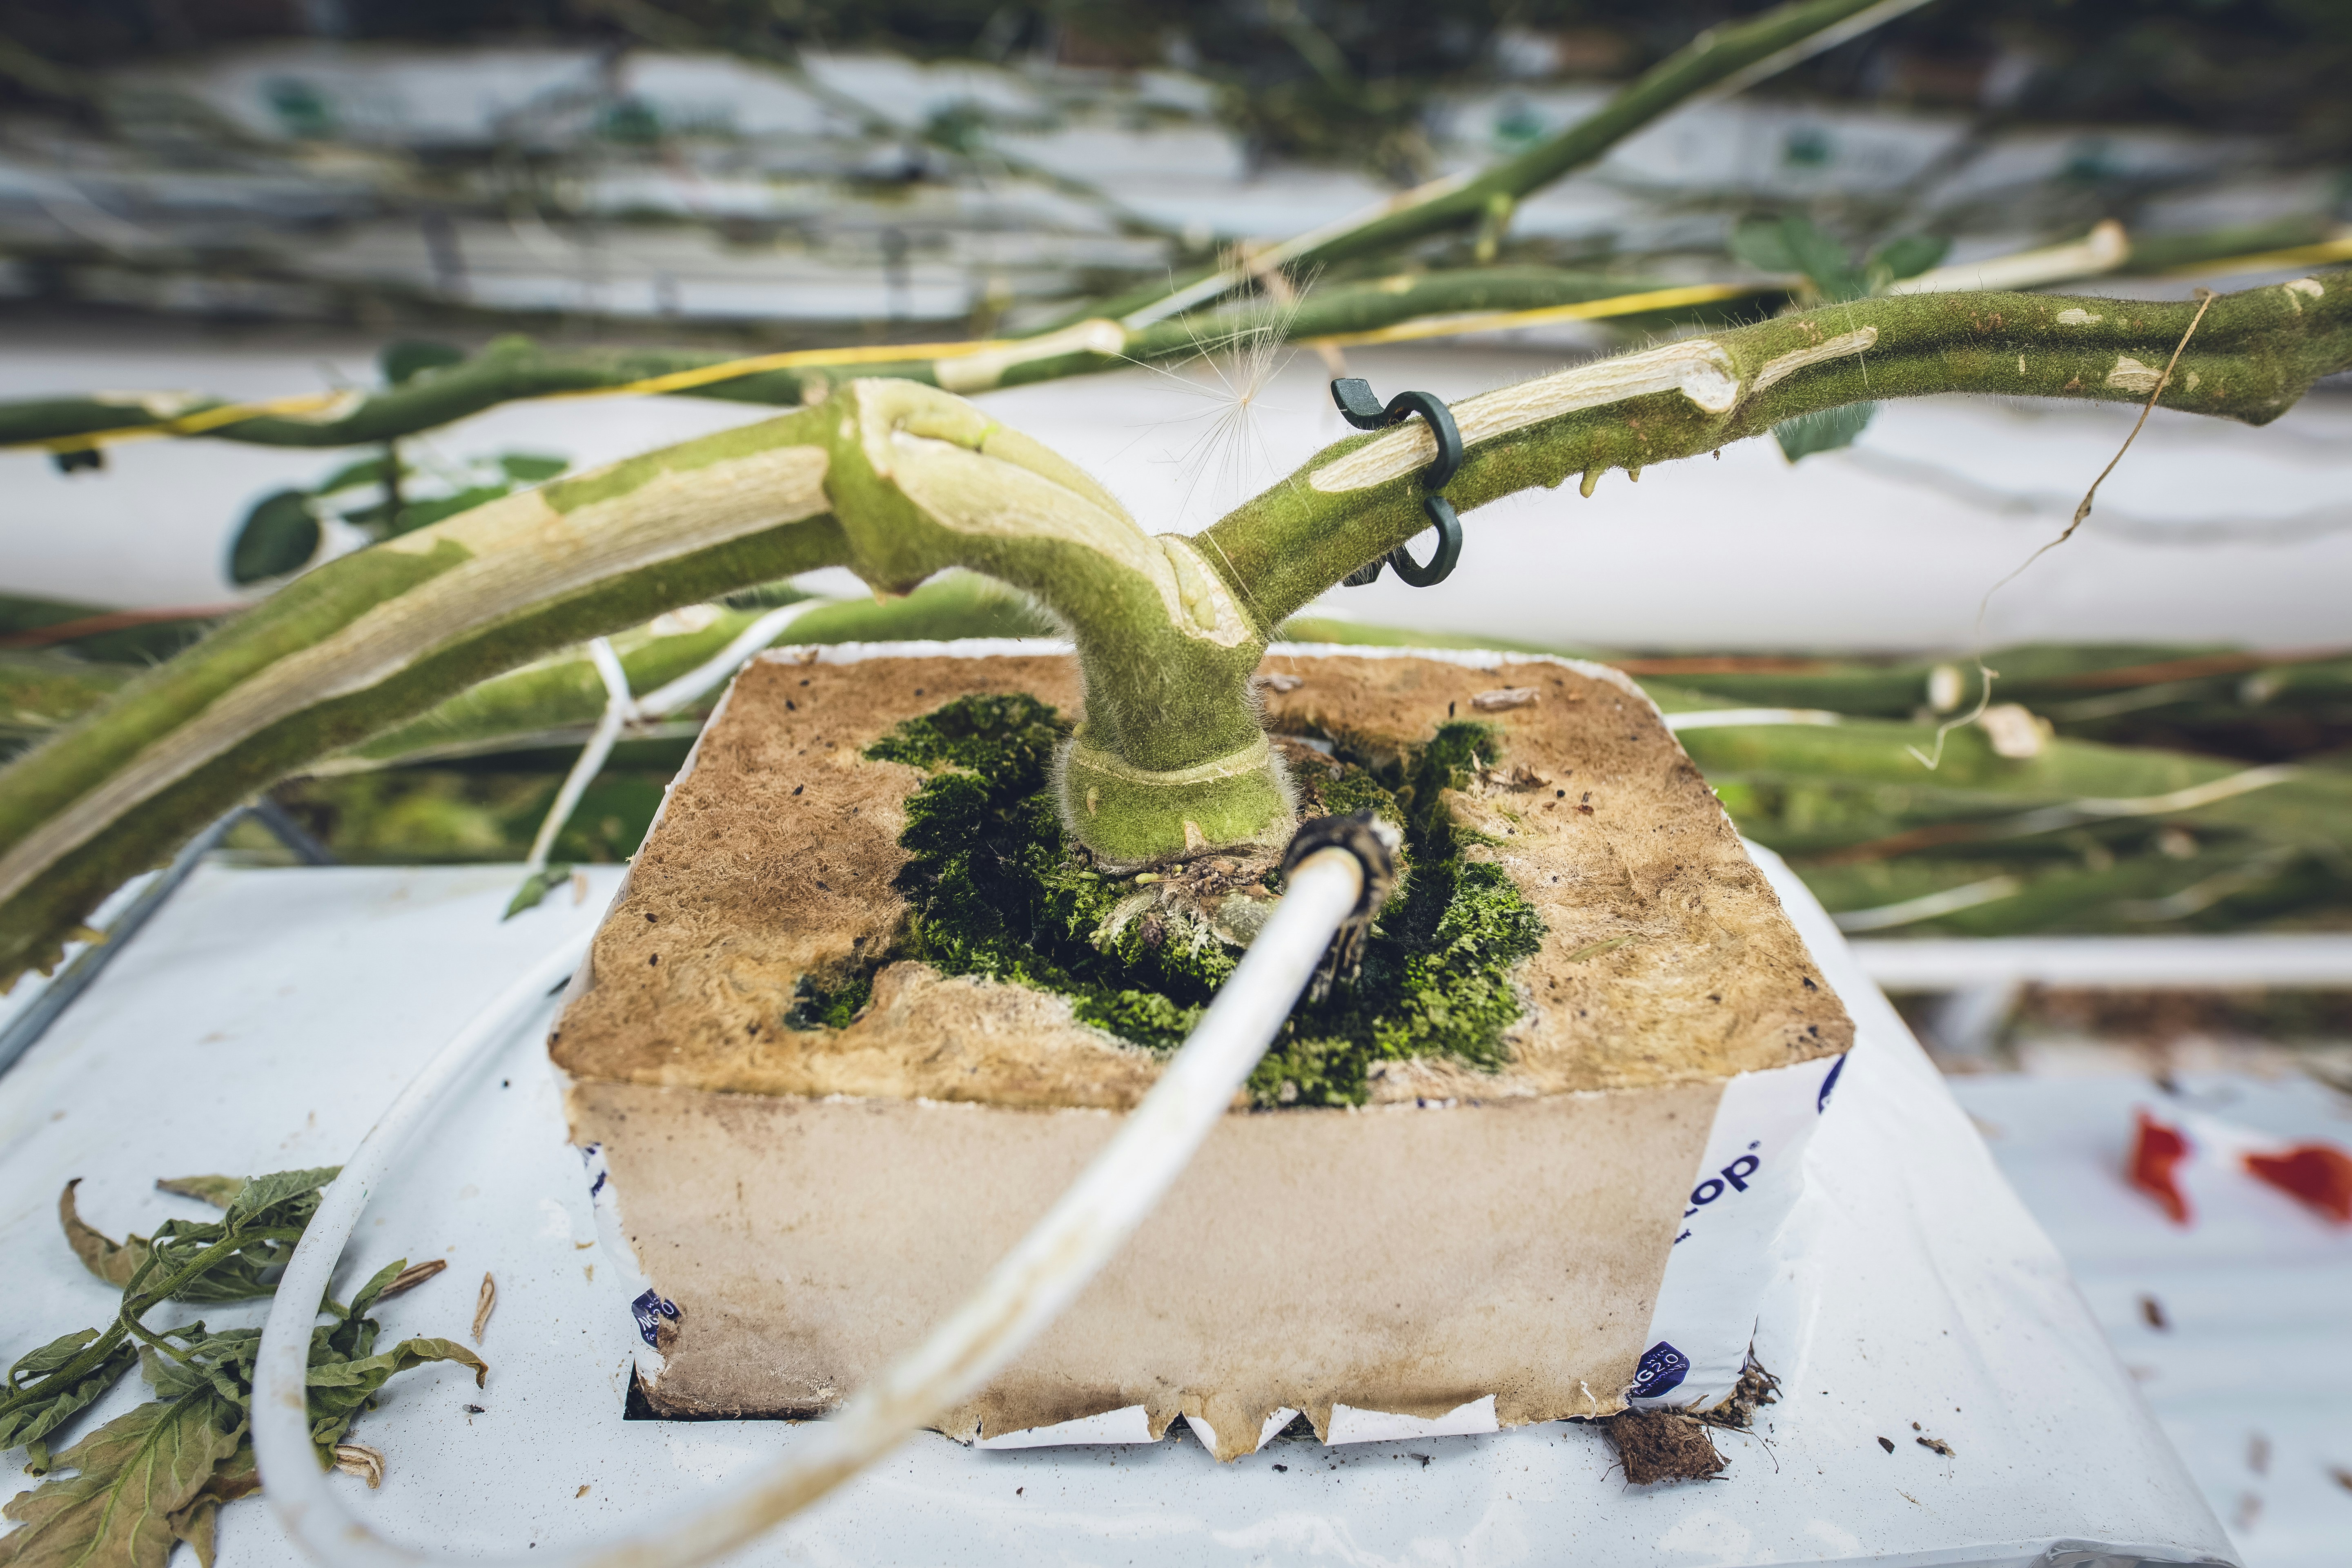
M 223 1429 L 209 1396 L 143 1403 L 56 1455 L 49 1474 L 0 1516 L 21 1528 L 0 1537 L 0 1568 L 165 1568 L 188 1509 L 240 1436 Z M 226 1413 L 235 1420 L 235 1413 Z

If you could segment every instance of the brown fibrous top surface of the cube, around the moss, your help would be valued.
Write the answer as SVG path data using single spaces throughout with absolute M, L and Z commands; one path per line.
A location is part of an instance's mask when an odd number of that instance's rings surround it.
M 1496 726 L 1449 806 L 1545 922 L 1515 978 L 1498 1074 L 1390 1063 L 1371 1098 L 1517 1098 L 1689 1084 L 1844 1051 L 1849 1023 L 1698 769 L 1649 701 L 1583 665 L 1277 656 L 1268 729 L 1402 755 L 1449 717 Z M 1526 691 L 1501 712 L 1475 698 Z M 967 693 L 1077 712 L 1061 656 L 755 661 L 663 806 L 553 1039 L 579 1079 L 783 1095 L 1134 1105 L 1160 1060 L 1068 1001 L 920 964 L 880 971 L 847 1030 L 786 1023 L 802 985 L 887 954 L 906 799 L 922 771 L 866 748 Z M 1312 752 L 1284 745 L 1296 764 Z

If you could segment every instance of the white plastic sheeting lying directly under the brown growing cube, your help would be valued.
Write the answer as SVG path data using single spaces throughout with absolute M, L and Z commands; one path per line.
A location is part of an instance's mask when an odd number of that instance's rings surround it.
M 920 1436 L 739 1561 L 2234 1561 L 1933 1067 L 1818 905 L 1766 865 L 1863 1044 L 1813 1140 L 1792 1262 L 1757 1335 L 1785 1399 L 1755 1436 L 1726 1439 L 1726 1479 L 1632 1490 L 1581 1425 L 1277 1441 L 1228 1467 L 1188 1439 L 985 1453 Z M 557 896 L 501 924 L 513 875 L 200 870 L 0 1079 L 14 1286 L 0 1356 L 113 1302 L 56 1234 L 68 1178 L 87 1178 L 85 1218 L 120 1234 L 191 1213 L 153 1192 L 158 1175 L 339 1159 L 426 1053 L 614 886 L 595 872 L 583 903 Z M 355 1434 L 388 1476 L 381 1493 L 353 1483 L 353 1507 L 407 1540 L 527 1549 L 604 1533 L 795 1441 L 786 1422 L 623 1420 L 635 1326 L 614 1269 L 597 1269 L 539 1023 L 381 1192 L 346 1269 L 449 1260 L 388 1305 L 393 1333 L 463 1335 L 480 1274 L 499 1281 L 489 1387 L 409 1373 Z M 2091 1556 L 2044 1556 L 2053 1547 Z M 226 1568 L 299 1561 L 249 1505 L 223 1516 L 221 1552 Z

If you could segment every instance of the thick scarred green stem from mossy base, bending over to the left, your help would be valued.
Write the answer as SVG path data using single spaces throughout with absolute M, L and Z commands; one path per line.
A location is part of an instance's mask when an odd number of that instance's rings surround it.
M 1192 545 L 960 397 L 868 381 L 348 555 L 127 682 L 0 771 L 0 983 L 315 757 L 550 649 L 835 564 L 882 590 L 969 567 L 1073 628 L 1089 701 L 1068 797 L 1103 853 L 1287 816 L 1244 686 L 1265 628 Z

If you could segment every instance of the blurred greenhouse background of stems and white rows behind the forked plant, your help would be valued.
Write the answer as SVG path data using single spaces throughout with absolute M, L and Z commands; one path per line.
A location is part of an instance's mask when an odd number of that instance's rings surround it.
M 0 2 L 0 745 L 310 562 L 823 383 L 614 388 L 1068 327 L 1543 146 L 1759 9 Z M 1272 270 L 1247 331 L 981 400 L 1145 527 L 1190 531 L 1343 430 L 1338 364 L 1456 397 L 1783 301 L 1973 287 L 2020 254 L 2044 259 L 2032 282 L 2122 299 L 2352 259 L 2340 5 L 1858 21 L 1877 26 L 1691 96 L 1475 233 Z M 1665 303 L 1284 341 L 1312 336 L 1284 310 L 1345 315 L 1411 277 L 1446 280 L 1456 310 Z M 334 421 L 496 364 L 513 395 L 381 440 L 205 425 L 249 402 Z M 583 390 L 607 395 L 546 395 Z M 2352 397 L 2321 386 L 2260 430 L 2157 411 L 2084 529 L 2011 578 L 2133 414 L 1922 400 L 1639 487 L 1517 496 L 1472 520 L 1444 585 L 1341 588 L 1294 635 L 1557 649 L 1670 712 L 1811 715 L 1684 743 L 1872 938 L 2352 931 Z M 134 440 L 158 433 L 176 440 Z M 793 639 L 1051 630 L 974 581 L 877 604 L 835 576 L 616 639 L 630 684 L 800 595 L 830 604 Z M 346 860 L 520 860 L 604 705 L 586 651 L 555 658 L 275 799 Z M 633 851 L 694 719 L 621 731 L 555 865 Z M 2060 1016 L 2089 1018 L 2027 1023 Z M 2326 994 L 2178 1016 L 2345 1032 Z

